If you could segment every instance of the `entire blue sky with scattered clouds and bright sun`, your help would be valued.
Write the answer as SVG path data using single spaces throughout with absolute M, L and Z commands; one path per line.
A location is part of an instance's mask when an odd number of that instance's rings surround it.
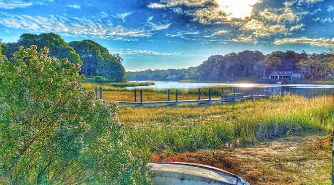
M 334 48 L 334 0 L 0 0 L 0 38 L 55 32 L 119 53 L 127 71 L 244 50 Z

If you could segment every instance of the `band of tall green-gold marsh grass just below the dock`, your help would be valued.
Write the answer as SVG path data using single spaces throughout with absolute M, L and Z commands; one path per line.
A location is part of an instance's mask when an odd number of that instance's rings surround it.
M 332 132 L 333 96 L 297 95 L 213 106 L 121 107 L 127 145 L 146 152 L 217 150 L 305 130 Z

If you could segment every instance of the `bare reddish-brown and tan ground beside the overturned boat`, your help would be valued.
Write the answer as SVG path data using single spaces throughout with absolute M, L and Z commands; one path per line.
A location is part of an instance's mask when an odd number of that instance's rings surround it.
M 251 184 L 330 184 L 331 139 L 303 132 L 266 140 L 254 147 L 153 155 L 154 161 L 201 163 L 247 179 Z

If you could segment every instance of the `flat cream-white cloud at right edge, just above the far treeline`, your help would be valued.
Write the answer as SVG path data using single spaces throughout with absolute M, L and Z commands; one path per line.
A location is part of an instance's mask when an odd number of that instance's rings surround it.
M 274 44 L 310 44 L 311 46 L 319 47 L 334 47 L 334 38 L 308 38 L 308 37 L 298 37 L 298 38 L 284 38 L 275 39 Z

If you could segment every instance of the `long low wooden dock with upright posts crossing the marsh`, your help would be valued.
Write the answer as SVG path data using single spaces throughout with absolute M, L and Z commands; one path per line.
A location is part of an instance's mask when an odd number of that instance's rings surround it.
M 102 88 L 99 88 L 100 99 L 102 99 Z M 187 100 L 178 100 L 178 93 L 175 90 L 175 100 L 170 100 L 170 90 L 167 91 L 167 100 L 166 101 L 143 101 L 143 92 L 140 91 L 140 101 L 137 101 L 137 90 L 134 91 L 134 101 L 116 101 L 120 105 L 134 105 L 134 106 L 149 106 L 149 105 L 170 105 L 177 106 L 178 104 L 190 104 L 190 103 L 198 103 L 198 104 L 208 104 L 214 102 L 235 102 L 236 100 L 247 100 L 247 99 L 259 99 L 259 98 L 268 98 L 269 90 L 264 91 L 266 95 L 258 95 L 253 91 L 252 95 L 244 95 L 244 93 L 237 93 L 235 88 L 233 88 L 233 93 L 221 93 L 220 98 L 211 98 L 211 89 L 209 89 L 209 98 L 201 99 L 201 89 L 198 89 L 198 99 L 187 99 Z M 95 98 L 97 100 L 97 87 L 95 87 Z M 104 102 L 108 102 L 109 100 L 104 100 Z

